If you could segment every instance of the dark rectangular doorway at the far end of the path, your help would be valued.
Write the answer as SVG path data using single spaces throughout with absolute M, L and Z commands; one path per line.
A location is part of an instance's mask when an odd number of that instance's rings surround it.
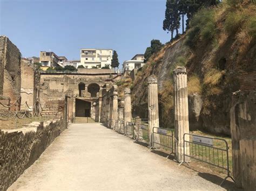
M 91 102 L 76 99 L 76 117 L 91 117 Z

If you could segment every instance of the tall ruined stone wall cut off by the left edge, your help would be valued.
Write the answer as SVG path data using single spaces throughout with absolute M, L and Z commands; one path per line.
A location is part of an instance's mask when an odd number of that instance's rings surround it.
M 0 95 L 11 103 L 21 97 L 21 52 L 8 37 L 0 36 Z

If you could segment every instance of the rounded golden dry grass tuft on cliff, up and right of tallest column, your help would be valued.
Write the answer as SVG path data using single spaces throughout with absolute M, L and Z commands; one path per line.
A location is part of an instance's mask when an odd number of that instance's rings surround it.
M 208 86 L 216 86 L 220 83 L 221 77 L 224 72 L 220 72 L 218 69 L 210 69 L 204 76 L 204 84 Z

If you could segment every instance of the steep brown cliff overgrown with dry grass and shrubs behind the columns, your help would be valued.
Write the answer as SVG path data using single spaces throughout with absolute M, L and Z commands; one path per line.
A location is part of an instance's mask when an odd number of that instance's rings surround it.
M 188 94 L 203 101 L 197 123 L 208 131 L 230 134 L 231 95 L 239 90 L 239 76 L 256 70 L 255 42 L 256 5 L 252 1 L 227 0 L 201 8 L 192 17 L 186 34 L 150 56 L 137 74 L 133 107 L 136 110 L 145 103 L 145 108 L 147 76 L 156 75 L 160 123 L 172 126 L 172 71 L 185 66 Z

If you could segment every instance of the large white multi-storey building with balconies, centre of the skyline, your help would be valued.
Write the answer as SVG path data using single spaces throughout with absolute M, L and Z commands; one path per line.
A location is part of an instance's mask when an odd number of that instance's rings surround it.
M 82 48 L 80 50 L 80 63 L 85 68 L 111 68 L 113 50 Z

